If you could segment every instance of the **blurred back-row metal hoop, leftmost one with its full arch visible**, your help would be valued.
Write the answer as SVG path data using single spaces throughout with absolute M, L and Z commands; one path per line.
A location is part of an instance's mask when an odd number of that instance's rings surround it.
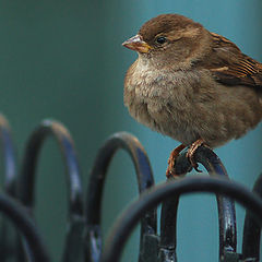
M 82 261 L 84 228 L 83 190 L 79 163 L 73 140 L 68 130 L 59 122 L 45 120 L 29 136 L 24 154 L 19 193 L 22 203 L 29 211 L 34 207 L 35 176 L 38 155 L 45 139 L 53 135 L 61 148 L 66 167 L 69 192 L 69 231 L 64 247 L 63 261 Z

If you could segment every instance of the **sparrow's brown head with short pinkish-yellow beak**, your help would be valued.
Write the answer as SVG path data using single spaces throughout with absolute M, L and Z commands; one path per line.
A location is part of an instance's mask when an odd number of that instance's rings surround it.
M 201 57 L 206 32 L 201 24 L 182 15 L 162 14 L 147 21 L 122 45 L 157 67 L 183 68 Z

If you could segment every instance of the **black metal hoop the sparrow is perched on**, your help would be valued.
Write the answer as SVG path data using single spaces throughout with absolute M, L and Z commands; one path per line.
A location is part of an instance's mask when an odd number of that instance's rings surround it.
M 191 170 L 186 152 L 176 160 L 177 174 L 187 174 Z M 194 154 L 194 159 L 201 163 L 211 176 L 218 175 L 228 178 L 225 167 L 218 156 L 209 147 L 200 146 Z M 170 180 L 170 179 L 169 179 Z M 160 225 L 160 257 L 164 261 L 177 261 L 177 210 L 179 199 L 170 198 L 162 206 Z M 224 261 L 227 255 L 238 257 L 236 211 L 234 202 L 224 196 L 217 196 L 218 222 L 219 222 L 219 259 Z

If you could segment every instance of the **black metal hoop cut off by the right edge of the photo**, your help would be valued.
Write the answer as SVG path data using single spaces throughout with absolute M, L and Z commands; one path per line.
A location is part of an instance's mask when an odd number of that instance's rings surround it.
M 262 174 L 257 179 L 253 192 L 262 198 Z M 246 212 L 242 240 L 242 257 L 252 262 L 260 261 L 261 225 L 257 223 L 252 214 Z

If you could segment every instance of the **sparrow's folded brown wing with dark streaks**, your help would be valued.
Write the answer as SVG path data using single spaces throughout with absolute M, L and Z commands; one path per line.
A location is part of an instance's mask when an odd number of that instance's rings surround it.
M 214 78 L 228 85 L 262 87 L 262 63 L 246 56 L 227 38 L 211 33 L 213 51 L 207 68 Z

